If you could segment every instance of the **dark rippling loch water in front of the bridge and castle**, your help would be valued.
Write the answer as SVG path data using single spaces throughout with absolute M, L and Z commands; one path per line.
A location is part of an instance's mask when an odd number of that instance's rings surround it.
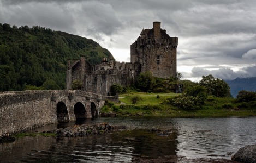
M 0 143 L 0 162 L 133 162 L 166 156 L 231 159 L 256 144 L 256 117 L 171 118 L 98 117 L 82 123 L 127 126 L 127 130 L 86 137 L 21 137 Z M 50 124 L 37 131 L 77 122 Z M 152 129 L 168 130 L 168 136 Z

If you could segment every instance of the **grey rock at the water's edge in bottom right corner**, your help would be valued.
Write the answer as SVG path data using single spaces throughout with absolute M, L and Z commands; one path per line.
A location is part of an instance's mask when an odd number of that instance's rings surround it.
M 232 160 L 246 163 L 256 162 L 256 145 L 242 147 L 233 156 Z

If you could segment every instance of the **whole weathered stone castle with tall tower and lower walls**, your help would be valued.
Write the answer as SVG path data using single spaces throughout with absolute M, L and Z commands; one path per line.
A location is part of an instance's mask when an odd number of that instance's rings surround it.
M 92 66 L 85 57 L 71 65 L 68 62 L 66 89 L 71 89 L 74 80 L 81 80 L 84 91 L 109 96 L 112 84 L 133 85 L 140 72 L 150 71 L 159 78 L 175 77 L 178 38 L 170 37 L 160 25 L 153 22 L 152 29 L 142 29 L 130 46 L 130 63 L 103 59 L 101 64 Z

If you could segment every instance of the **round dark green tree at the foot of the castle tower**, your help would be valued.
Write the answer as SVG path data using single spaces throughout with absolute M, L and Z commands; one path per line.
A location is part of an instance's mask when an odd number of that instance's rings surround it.
M 141 72 L 136 81 L 136 87 L 144 92 L 152 91 L 156 85 L 156 79 L 150 71 Z

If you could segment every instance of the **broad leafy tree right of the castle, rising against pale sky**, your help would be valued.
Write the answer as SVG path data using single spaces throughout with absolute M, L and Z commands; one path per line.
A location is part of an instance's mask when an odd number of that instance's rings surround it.
M 223 79 L 215 78 L 211 74 L 202 76 L 199 84 L 205 86 L 207 93 L 216 97 L 229 97 L 230 87 Z

